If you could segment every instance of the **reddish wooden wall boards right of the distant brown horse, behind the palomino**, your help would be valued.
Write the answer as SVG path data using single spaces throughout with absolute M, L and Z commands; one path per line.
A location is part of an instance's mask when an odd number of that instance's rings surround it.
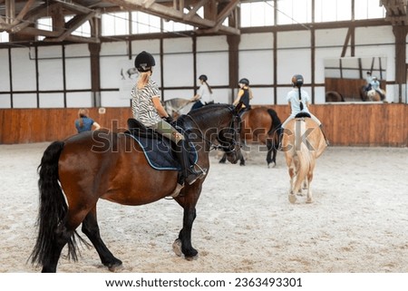
M 285 121 L 288 106 L 271 106 Z M 337 146 L 393 146 L 408 145 L 408 105 L 325 104 L 312 105 L 310 111 L 322 121 L 325 134 Z

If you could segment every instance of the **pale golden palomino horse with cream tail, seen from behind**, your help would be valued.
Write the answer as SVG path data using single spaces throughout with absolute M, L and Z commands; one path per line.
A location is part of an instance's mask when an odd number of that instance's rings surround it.
M 296 202 L 296 194 L 304 183 L 307 189 L 306 203 L 313 202 L 310 184 L 316 159 L 327 147 L 318 124 L 310 118 L 298 117 L 287 123 L 282 137 L 290 177 L 289 201 Z

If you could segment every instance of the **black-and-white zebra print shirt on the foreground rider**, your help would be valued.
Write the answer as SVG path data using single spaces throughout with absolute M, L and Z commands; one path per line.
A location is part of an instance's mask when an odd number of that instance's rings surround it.
M 160 97 L 160 93 L 159 86 L 151 79 L 144 88 L 138 89 L 136 84 L 131 90 L 131 112 L 133 113 L 133 118 L 141 121 L 147 127 L 161 121 L 160 115 L 151 100 L 153 97 Z

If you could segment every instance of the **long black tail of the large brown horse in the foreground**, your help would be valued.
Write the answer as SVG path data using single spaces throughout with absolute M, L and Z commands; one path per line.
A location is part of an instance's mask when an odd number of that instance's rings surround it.
M 58 160 L 63 151 L 63 141 L 53 141 L 44 151 L 43 158 L 38 166 L 40 179 L 39 213 L 36 222 L 38 237 L 31 254 L 32 264 L 47 266 L 50 254 L 54 254 L 58 232 L 61 232 L 63 220 L 66 217 L 68 206 L 63 196 L 63 190 L 58 182 Z M 68 255 L 76 260 L 75 240 L 68 239 Z

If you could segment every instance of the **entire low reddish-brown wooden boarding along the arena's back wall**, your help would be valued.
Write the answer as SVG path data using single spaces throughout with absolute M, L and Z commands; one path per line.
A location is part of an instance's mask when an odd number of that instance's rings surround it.
M 256 106 L 254 106 L 256 107 Z M 289 115 L 288 105 L 269 106 L 281 121 Z M 408 144 L 408 105 L 395 103 L 322 104 L 310 107 L 324 124 L 335 146 L 393 146 Z M 0 143 L 29 143 L 63 140 L 76 133 L 73 122 L 78 109 L 2 109 Z M 106 108 L 105 114 L 90 109 L 102 127 L 124 131 L 131 108 Z

